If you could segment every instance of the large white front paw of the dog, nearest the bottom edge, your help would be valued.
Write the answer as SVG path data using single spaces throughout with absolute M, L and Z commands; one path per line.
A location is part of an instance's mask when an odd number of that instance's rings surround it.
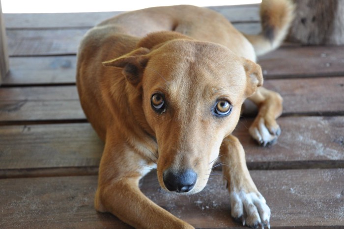
M 270 208 L 258 193 L 231 192 L 231 215 L 245 226 L 270 229 Z

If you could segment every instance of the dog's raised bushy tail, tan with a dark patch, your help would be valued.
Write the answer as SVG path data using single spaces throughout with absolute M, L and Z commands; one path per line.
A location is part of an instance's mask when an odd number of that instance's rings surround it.
M 262 0 L 260 21 L 262 31 L 257 35 L 244 34 L 257 55 L 277 49 L 287 36 L 294 18 L 292 0 Z

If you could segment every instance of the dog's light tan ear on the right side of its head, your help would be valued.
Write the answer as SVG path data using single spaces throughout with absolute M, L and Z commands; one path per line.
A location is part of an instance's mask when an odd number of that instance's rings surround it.
M 255 62 L 243 58 L 243 66 L 246 72 L 246 98 L 252 96 L 257 88 L 263 85 L 261 68 Z

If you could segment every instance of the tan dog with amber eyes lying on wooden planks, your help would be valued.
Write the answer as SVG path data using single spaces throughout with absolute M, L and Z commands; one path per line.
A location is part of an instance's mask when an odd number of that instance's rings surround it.
M 248 98 L 258 105 L 249 128 L 258 144 L 280 135 L 282 98 L 261 86 L 255 62 L 283 42 L 292 12 L 289 0 L 263 0 L 258 35 L 191 5 L 126 12 L 86 33 L 77 87 L 88 121 L 105 142 L 97 211 L 135 228 L 193 228 L 145 197 L 139 180 L 156 169 L 163 189 L 193 194 L 220 160 L 231 216 L 249 227 L 270 227 L 270 208 L 231 133 Z

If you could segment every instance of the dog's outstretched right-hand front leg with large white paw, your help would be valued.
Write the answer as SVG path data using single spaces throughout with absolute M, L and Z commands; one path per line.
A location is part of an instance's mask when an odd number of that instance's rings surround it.
M 269 228 L 270 208 L 250 176 L 241 143 L 233 135 L 224 139 L 220 159 L 228 182 L 232 217 L 243 225 Z

